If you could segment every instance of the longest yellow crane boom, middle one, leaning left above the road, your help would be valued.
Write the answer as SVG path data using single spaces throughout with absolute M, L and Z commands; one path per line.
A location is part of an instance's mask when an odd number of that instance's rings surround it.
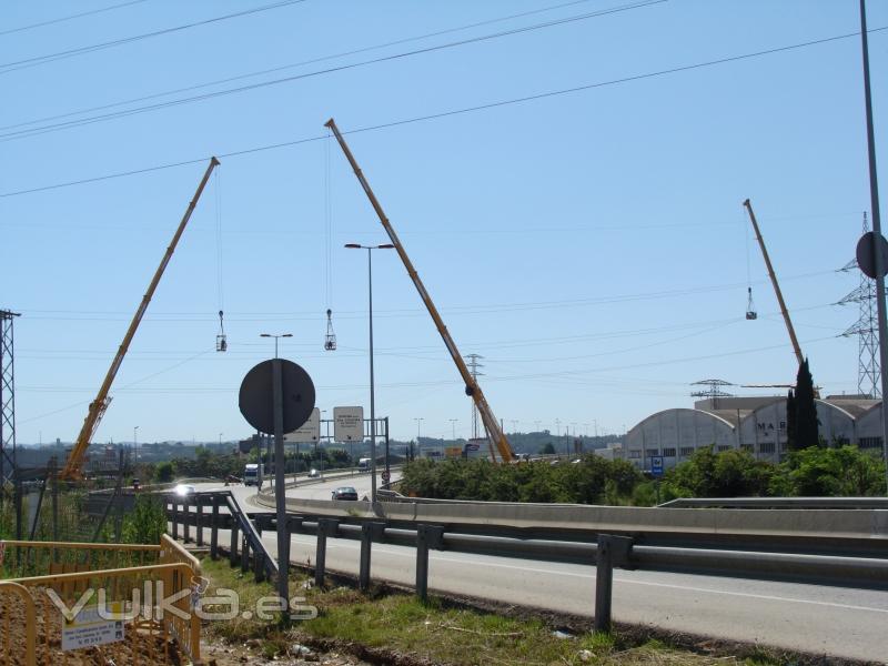
M 447 326 L 444 325 L 444 321 L 441 319 L 441 315 L 437 312 L 437 307 L 435 307 L 435 304 L 432 302 L 432 296 L 430 296 L 428 292 L 425 291 L 425 285 L 423 284 L 422 280 L 420 280 L 420 275 L 416 272 L 416 269 L 413 268 L 413 263 L 410 261 L 410 258 L 404 250 L 404 245 L 401 244 L 401 240 L 397 238 L 392 223 L 389 221 L 389 218 L 386 218 L 385 212 L 382 210 L 382 205 L 370 186 L 370 183 L 367 182 L 366 178 L 364 178 L 361 168 L 357 165 L 352 151 L 349 149 L 349 144 L 345 143 L 345 139 L 343 139 L 342 133 L 332 118 L 324 124 L 330 128 L 330 130 L 333 132 L 333 135 L 336 138 L 340 148 L 342 148 L 342 152 L 345 154 L 345 159 L 349 160 L 355 176 L 357 176 L 357 182 L 361 183 L 361 186 L 364 189 L 364 193 L 367 195 L 367 199 L 370 199 L 371 205 L 373 205 L 373 210 L 376 211 L 376 215 L 379 215 L 380 222 L 382 222 L 383 229 L 385 229 L 385 233 L 389 234 L 389 239 L 392 241 L 395 250 L 397 250 L 401 261 L 404 262 L 404 268 L 407 270 L 407 274 L 413 281 L 413 285 L 416 287 L 416 291 L 420 292 L 420 297 L 423 300 L 426 310 L 428 310 L 428 314 L 432 315 L 432 321 L 435 323 L 435 327 L 441 334 L 444 345 L 447 347 L 453 362 L 456 364 L 456 369 L 460 371 L 460 375 L 465 382 L 466 394 L 468 394 L 472 400 L 475 401 L 475 406 L 478 410 L 478 414 L 481 414 L 481 420 L 487 431 L 487 436 L 493 441 L 496 450 L 500 452 L 500 457 L 503 458 L 503 462 L 512 462 L 515 458 L 515 454 L 512 451 L 512 446 L 508 444 L 508 440 L 506 440 L 503 430 L 500 427 L 500 423 L 496 421 L 493 410 L 491 410 L 491 405 L 487 404 L 487 400 L 484 397 L 484 392 L 482 392 L 481 386 L 475 377 L 473 377 L 468 372 L 468 367 L 466 366 L 465 361 L 463 361 L 460 350 L 456 349 L 456 343 L 453 341 L 453 337 L 451 337 Z

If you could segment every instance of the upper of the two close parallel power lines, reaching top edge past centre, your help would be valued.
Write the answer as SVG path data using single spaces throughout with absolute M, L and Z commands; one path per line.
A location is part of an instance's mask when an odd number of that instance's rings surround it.
M 143 2 L 144 0 L 139 0 L 139 1 Z M 273 67 L 273 68 L 265 69 L 265 70 L 259 70 L 259 71 L 255 71 L 255 72 L 249 72 L 246 74 L 239 74 L 236 77 L 228 77 L 225 79 L 216 79 L 215 81 L 208 81 L 205 83 L 196 83 L 194 85 L 188 85 L 188 87 L 184 87 L 184 88 L 176 88 L 174 90 L 167 90 L 164 92 L 155 92 L 153 94 L 148 94 L 148 95 L 139 97 L 139 98 L 132 98 L 132 99 L 129 99 L 129 100 L 122 100 L 122 101 L 119 101 L 119 102 L 112 102 L 112 103 L 109 103 L 109 104 L 102 104 L 100 107 L 91 107 L 89 109 L 80 109 L 78 111 L 69 111 L 67 113 L 59 113 L 57 115 L 47 115 L 47 117 L 43 117 L 43 118 L 38 118 L 36 120 L 28 120 L 28 121 L 23 121 L 23 122 L 18 122 L 18 123 L 11 124 L 11 125 L 0 125 L 0 130 L 13 130 L 16 128 L 20 128 L 20 127 L 24 127 L 24 125 L 38 124 L 38 123 L 41 123 L 41 122 L 49 122 L 51 120 L 60 120 L 62 118 L 71 118 L 72 115 L 82 115 L 84 113 L 92 113 L 94 111 L 104 111 L 105 109 L 113 109 L 114 107 L 124 107 L 127 104 L 135 104 L 138 102 L 144 102 L 144 101 L 148 101 L 148 100 L 153 100 L 153 99 L 158 99 L 158 98 L 162 98 L 162 97 L 168 97 L 168 95 L 171 95 L 171 94 L 178 94 L 180 92 L 191 92 L 192 90 L 200 90 L 201 88 L 211 88 L 213 85 L 220 85 L 222 83 L 231 83 L 232 81 L 240 81 L 242 79 L 251 79 L 251 78 L 254 78 L 254 77 L 261 77 L 263 74 L 271 74 L 271 73 L 280 72 L 280 71 L 283 71 L 283 70 L 287 70 L 287 69 L 294 69 L 294 68 L 297 68 L 297 67 L 304 67 L 306 64 L 314 64 L 316 62 L 323 62 L 325 60 L 336 60 L 339 58 L 345 58 L 346 56 L 356 56 L 357 53 L 365 53 L 367 51 L 377 51 L 380 49 L 385 49 L 385 48 L 389 48 L 389 47 L 395 47 L 395 46 L 398 46 L 398 44 L 408 43 L 408 42 L 413 42 L 413 41 L 421 41 L 421 40 L 424 40 L 424 39 L 430 39 L 432 37 L 441 37 L 442 34 L 448 34 L 448 33 L 452 33 L 452 32 L 461 32 L 463 30 L 470 30 L 472 28 L 478 28 L 481 26 L 488 26 L 491 23 L 500 23 L 500 22 L 503 22 L 503 21 L 509 21 L 512 19 L 518 19 L 518 18 L 523 18 L 523 17 L 526 17 L 526 16 L 531 16 L 531 14 L 543 13 L 543 12 L 553 11 L 553 10 L 556 10 L 556 9 L 563 9 L 565 7 L 571 7 L 571 6 L 574 6 L 574 4 L 583 4 L 585 2 L 591 2 L 591 1 L 592 0 L 574 0 L 573 2 L 565 2 L 565 3 L 562 3 L 562 4 L 553 4 L 551 7 L 544 7 L 542 9 L 535 9 L 533 11 L 525 11 L 525 12 L 522 12 L 522 13 L 509 14 L 507 17 L 500 17 L 500 18 L 496 18 L 496 19 L 488 19 L 486 21 L 478 21 L 476 23 L 468 23 L 467 26 L 460 26 L 457 28 L 447 28 L 445 30 L 438 30 L 437 32 L 427 32 L 425 34 L 420 34 L 420 36 L 415 36 L 415 37 L 407 37 L 407 38 L 404 38 L 404 39 L 398 39 L 398 40 L 385 42 L 385 43 L 382 43 L 382 44 L 375 44 L 375 46 L 372 46 L 372 47 L 363 47 L 361 49 L 353 49 L 351 51 L 343 51 L 343 52 L 340 52 L 340 53 L 333 53 L 331 56 L 321 56 L 320 58 L 312 58 L 311 60 L 303 60 L 302 62 L 294 62 L 294 63 L 291 63 L 291 64 L 282 64 L 282 65 Z

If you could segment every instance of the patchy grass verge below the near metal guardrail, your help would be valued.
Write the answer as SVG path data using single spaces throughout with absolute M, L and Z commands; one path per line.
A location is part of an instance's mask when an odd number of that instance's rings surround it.
M 241 594 L 241 610 L 252 608 L 263 595 L 274 594 L 271 585 L 255 584 L 252 573 L 241 575 L 228 562 L 203 562 L 204 575 L 213 587 L 229 587 Z M 302 588 L 305 576 L 294 576 L 291 595 L 302 594 L 305 604 L 317 607 L 315 619 L 283 627 L 276 623 L 238 618 L 210 623 L 210 634 L 231 642 L 258 642 L 266 656 L 285 654 L 294 643 L 319 644 L 337 640 L 360 644 L 387 655 L 402 655 L 433 664 L 538 664 L 594 666 L 774 666 L 765 655 L 755 659 L 710 657 L 648 640 L 627 645 L 615 635 L 584 634 L 558 638 L 541 620 L 517 619 L 473 609 L 448 607 L 440 599 L 420 603 L 405 594 L 363 595 L 352 588 L 330 591 Z

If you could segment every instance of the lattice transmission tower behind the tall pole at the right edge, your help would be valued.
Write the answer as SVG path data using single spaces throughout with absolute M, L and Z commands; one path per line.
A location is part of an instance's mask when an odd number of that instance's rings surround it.
M 869 221 L 864 213 L 864 233 L 869 231 Z M 851 293 L 846 295 L 839 305 L 857 303 L 860 314 L 851 326 L 848 327 L 844 336 L 857 335 L 858 365 L 857 365 L 857 392 L 860 395 L 869 395 L 874 398 L 881 397 L 881 369 L 879 365 L 879 336 L 878 323 L 876 319 L 876 281 L 870 280 L 859 270 L 857 260 L 851 260 L 840 269 L 844 273 L 858 271 L 860 273 L 860 284 Z

